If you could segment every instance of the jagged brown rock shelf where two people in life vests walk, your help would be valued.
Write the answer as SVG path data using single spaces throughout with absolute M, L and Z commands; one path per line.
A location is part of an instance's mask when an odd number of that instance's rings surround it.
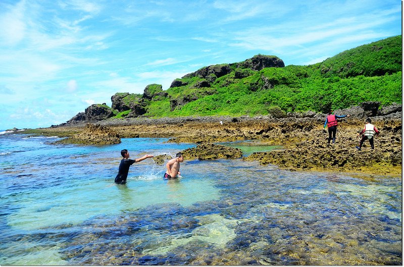
M 359 145 L 357 135 L 364 122 L 346 119 L 339 126 L 334 145 L 327 145 L 328 133 L 316 125 L 300 123 L 302 127 L 295 129 L 283 125 L 280 137 L 284 141 L 276 142 L 283 143 L 283 149 L 253 153 L 243 160 L 257 160 L 262 165 L 274 164 L 290 170 L 399 174 L 402 162 L 401 122 L 389 119 L 372 122 L 381 132 L 379 137 L 375 137 L 374 150 L 368 141 L 361 151 L 355 148 Z M 269 132 L 266 134 L 271 135 Z M 288 139 L 291 142 L 287 142 Z

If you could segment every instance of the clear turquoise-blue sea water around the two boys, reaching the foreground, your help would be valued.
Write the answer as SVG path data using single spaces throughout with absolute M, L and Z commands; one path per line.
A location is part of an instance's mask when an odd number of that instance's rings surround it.
M 182 178 L 131 158 L 193 144 L 123 139 L 62 146 L 0 135 L 1 265 L 396 265 L 401 178 L 290 172 L 242 160 L 185 161 Z M 263 149 L 233 143 L 244 155 Z

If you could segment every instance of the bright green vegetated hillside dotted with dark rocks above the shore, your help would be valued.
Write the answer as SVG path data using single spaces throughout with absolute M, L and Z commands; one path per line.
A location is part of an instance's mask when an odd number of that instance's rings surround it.
M 201 68 L 164 91 L 161 85 L 149 85 L 143 95 L 117 93 L 112 106 L 126 107 L 115 110 L 119 118 L 325 113 L 366 101 L 378 101 L 381 107 L 401 104 L 401 43 L 401 36 L 394 36 L 313 65 L 284 66 L 276 56 L 259 54 Z

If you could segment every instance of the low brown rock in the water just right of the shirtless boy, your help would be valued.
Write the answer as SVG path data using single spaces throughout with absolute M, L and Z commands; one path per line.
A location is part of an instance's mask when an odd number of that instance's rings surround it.
M 215 159 L 238 159 L 242 152 L 238 148 L 226 147 L 222 145 L 203 144 L 195 148 L 182 151 L 184 159 L 215 160 Z

